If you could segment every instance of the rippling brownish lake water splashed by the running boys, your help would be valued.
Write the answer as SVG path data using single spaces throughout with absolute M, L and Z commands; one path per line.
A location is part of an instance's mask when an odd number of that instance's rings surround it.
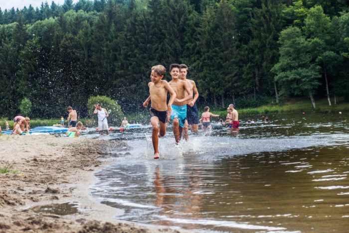
M 115 132 L 107 139 L 133 149 L 96 174 L 91 194 L 124 210 L 117 219 L 194 232 L 347 232 L 349 115 L 269 119 L 179 146 L 168 128 L 160 160 L 150 127 Z

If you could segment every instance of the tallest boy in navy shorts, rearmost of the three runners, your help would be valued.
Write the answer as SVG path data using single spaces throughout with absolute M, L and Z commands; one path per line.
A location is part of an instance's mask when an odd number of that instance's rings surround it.
M 183 138 L 188 140 L 188 125 L 190 126 L 190 131 L 197 134 L 199 128 L 199 112 L 196 107 L 196 100 L 199 97 L 197 92 L 196 84 L 193 80 L 187 79 L 186 75 L 188 73 L 188 67 L 184 64 L 179 65 L 179 78 L 180 80 L 186 81 L 190 89 L 190 96 L 194 94 L 194 98 L 186 104 L 186 121 L 183 129 Z

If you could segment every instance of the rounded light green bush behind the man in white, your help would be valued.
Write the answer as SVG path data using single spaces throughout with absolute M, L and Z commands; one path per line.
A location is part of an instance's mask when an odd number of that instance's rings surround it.
M 88 101 L 87 101 L 88 114 L 91 118 L 93 118 L 95 115 L 93 114 L 93 111 L 95 110 L 95 105 L 98 103 L 101 104 L 102 108 L 105 108 L 107 111 L 111 110 L 111 113 L 109 114 L 109 117 L 108 117 L 109 123 L 117 123 L 117 124 L 121 123 L 124 117 L 124 113 L 121 111 L 120 105 L 116 100 L 113 100 L 107 96 L 97 95 L 97 96 L 91 96 L 90 98 L 88 98 Z M 95 119 L 97 119 L 97 117 Z

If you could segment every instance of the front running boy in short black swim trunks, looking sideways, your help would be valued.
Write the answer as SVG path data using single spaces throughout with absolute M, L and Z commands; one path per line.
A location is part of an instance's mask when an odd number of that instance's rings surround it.
M 154 159 L 159 159 L 159 136 L 164 137 L 166 134 L 166 122 L 172 113 L 171 105 L 174 103 L 176 94 L 166 80 L 162 80 L 166 73 L 163 65 L 152 67 L 151 82 L 148 83 L 150 96 L 143 103 L 144 107 L 148 106 L 149 100 L 152 101 L 150 108 L 150 123 L 153 126 L 152 141 L 154 147 Z M 166 105 L 167 92 L 171 98 Z M 160 129 L 159 129 L 160 123 Z

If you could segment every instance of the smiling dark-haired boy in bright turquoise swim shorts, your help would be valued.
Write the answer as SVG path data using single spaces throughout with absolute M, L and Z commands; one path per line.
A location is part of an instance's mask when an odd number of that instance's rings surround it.
M 170 74 L 172 80 L 169 82 L 172 89 L 177 95 L 177 98 L 174 100 L 172 105 L 172 114 L 171 120 L 174 121 L 174 140 L 178 144 L 182 136 L 182 131 L 184 128 L 184 123 L 186 121 L 186 103 L 192 99 L 192 93 L 186 81 L 182 81 L 179 78 L 179 69 L 178 64 L 170 65 Z

